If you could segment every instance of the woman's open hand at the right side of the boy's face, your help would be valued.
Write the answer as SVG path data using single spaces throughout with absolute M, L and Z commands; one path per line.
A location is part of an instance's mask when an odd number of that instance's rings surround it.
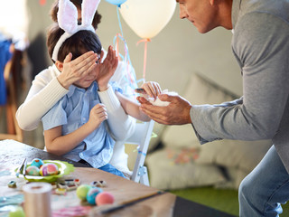
M 101 55 L 102 59 L 103 54 Z M 118 58 L 116 51 L 112 48 L 112 46 L 108 47 L 107 58 L 102 62 L 98 63 L 99 74 L 97 78 L 98 89 L 100 91 L 107 90 L 108 81 L 114 75 L 117 70 Z

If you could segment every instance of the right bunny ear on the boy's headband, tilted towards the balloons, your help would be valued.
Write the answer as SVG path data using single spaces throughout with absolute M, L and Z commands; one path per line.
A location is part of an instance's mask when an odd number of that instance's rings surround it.
M 81 18 L 83 26 L 89 26 L 92 24 L 94 14 L 98 9 L 100 0 L 83 0 L 81 5 Z

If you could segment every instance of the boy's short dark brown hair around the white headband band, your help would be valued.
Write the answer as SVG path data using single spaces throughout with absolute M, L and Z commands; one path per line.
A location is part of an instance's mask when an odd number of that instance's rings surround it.
M 63 33 L 64 30 L 62 30 L 58 24 L 51 24 L 47 33 L 47 48 L 51 58 L 55 44 L 59 41 Z M 96 33 L 92 33 L 88 30 L 81 30 L 74 33 L 62 43 L 60 51 L 58 52 L 58 60 L 63 62 L 70 52 L 72 53 L 72 60 L 78 58 L 84 52 L 93 51 L 100 54 L 101 48 L 101 42 Z

